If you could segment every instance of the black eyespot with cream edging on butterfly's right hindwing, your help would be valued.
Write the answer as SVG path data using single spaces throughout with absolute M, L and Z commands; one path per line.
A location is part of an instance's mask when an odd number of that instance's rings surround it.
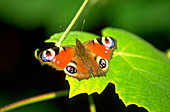
M 99 64 L 100 68 L 103 71 L 107 71 L 109 69 L 109 64 L 108 64 L 108 60 L 103 59 L 102 57 L 98 56 L 96 58 L 97 63 Z

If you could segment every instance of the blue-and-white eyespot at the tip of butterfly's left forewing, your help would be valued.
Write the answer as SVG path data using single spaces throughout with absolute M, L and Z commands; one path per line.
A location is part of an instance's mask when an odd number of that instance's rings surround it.
M 51 61 L 54 57 L 55 57 L 55 51 L 52 49 L 45 50 L 41 55 L 41 59 L 44 62 Z

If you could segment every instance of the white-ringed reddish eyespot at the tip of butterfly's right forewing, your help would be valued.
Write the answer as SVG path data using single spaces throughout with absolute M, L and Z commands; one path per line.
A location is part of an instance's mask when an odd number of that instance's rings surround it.
M 102 43 L 109 48 L 112 48 L 115 45 L 114 40 L 111 37 L 102 37 Z

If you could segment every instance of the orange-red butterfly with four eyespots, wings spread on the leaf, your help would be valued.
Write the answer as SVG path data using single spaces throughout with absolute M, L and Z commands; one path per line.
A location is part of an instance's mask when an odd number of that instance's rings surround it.
M 99 37 L 82 44 L 76 39 L 76 46 L 53 47 L 42 51 L 38 59 L 78 80 L 106 76 L 108 61 L 112 58 L 117 42 L 112 37 Z

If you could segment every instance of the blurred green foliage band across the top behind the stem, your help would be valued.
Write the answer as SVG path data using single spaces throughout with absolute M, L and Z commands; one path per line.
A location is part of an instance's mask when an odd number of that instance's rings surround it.
M 84 0 L 0 0 L 0 19 L 17 27 L 44 27 L 50 34 L 66 28 Z M 168 0 L 89 0 L 74 29 L 120 27 L 137 34 L 170 35 Z M 170 41 L 170 36 L 168 36 Z

